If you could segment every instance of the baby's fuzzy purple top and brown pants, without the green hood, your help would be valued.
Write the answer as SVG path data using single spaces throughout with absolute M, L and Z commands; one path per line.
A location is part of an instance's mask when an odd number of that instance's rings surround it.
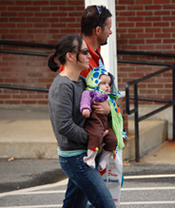
M 80 111 L 88 109 L 91 112 L 90 117 L 86 120 L 85 130 L 89 135 L 88 149 L 93 151 L 100 150 L 102 143 L 105 143 L 103 149 L 109 152 L 113 152 L 117 146 L 117 138 L 109 126 L 107 115 L 99 114 L 91 109 L 94 101 L 104 102 L 106 99 L 108 99 L 108 95 L 101 94 L 98 91 L 85 90 L 82 93 Z M 109 129 L 109 133 L 103 138 L 103 133 L 106 129 Z

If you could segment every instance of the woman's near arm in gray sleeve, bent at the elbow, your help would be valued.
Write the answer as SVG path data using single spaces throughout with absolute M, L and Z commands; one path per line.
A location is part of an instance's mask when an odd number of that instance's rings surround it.
M 71 84 L 62 83 L 52 89 L 49 95 L 49 105 L 54 131 L 76 143 L 87 144 L 88 133 L 74 122 L 80 121 L 81 118 L 73 118 L 73 96 Z

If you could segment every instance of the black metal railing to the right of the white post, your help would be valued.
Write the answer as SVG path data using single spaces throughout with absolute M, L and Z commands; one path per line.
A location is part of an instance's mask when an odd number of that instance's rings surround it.
M 139 56 L 158 56 L 158 57 L 175 57 L 175 54 L 172 53 L 158 53 L 158 52 L 142 52 L 142 51 L 125 51 L 125 50 L 118 50 L 118 54 L 125 54 L 125 55 L 139 55 Z M 161 69 L 157 72 L 149 74 L 145 77 L 139 78 L 137 80 L 128 82 L 125 87 L 126 92 L 126 112 L 127 114 L 131 115 L 134 113 L 134 121 L 135 121 L 135 160 L 136 162 L 140 161 L 140 153 L 139 153 L 139 122 L 156 114 L 159 113 L 166 108 L 173 106 L 173 141 L 175 141 L 175 65 L 172 63 L 159 63 L 159 62 L 147 62 L 147 61 L 132 61 L 132 60 L 119 60 L 120 63 L 130 63 L 130 64 L 144 64 L 144 65 L 154 65 L 154 66 L 167 66 L 168 68 Z M 142 81 L 145 81 L 149 78 L 157 76 L 161 73 L 166 71 L 173 70 L 173 98 L 172 100 L 167 99 L 153 99 L 153 98 L 145 98 L 145 97 L 138 97 L 138 84 Z M 129 88 L 134 87 L 134 96 L 130 96 Z M 134 100 L 134 108 L 130 110 L 130 100 Z M 141 117 L 138 115 L 138 108 L 139 108 L 139 100 L 141 101 L 153 101 L 159 103 L 167 103 L 166 105 L 146 114 Z

